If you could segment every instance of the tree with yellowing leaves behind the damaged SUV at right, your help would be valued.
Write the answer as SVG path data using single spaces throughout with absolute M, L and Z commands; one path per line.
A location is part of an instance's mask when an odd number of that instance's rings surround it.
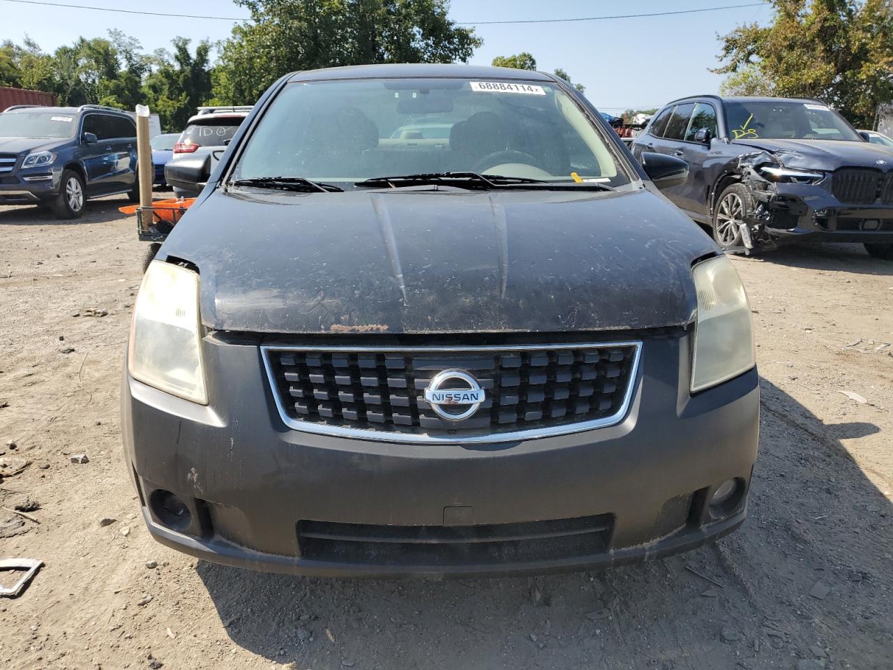
M 772 0 L 772 24 L 746 23 L 722 38 L 714 70 L 729 90 L 818 97 L 857 127 L 872 127 L 893 99 L 889 0 Z

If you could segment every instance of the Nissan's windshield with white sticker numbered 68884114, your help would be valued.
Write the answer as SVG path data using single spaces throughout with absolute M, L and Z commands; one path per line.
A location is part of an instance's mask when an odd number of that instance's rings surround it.
M 232 179 L 356 182 L 444 172 L 571 186 L 628 181 L 561 88 L 463 79 L 289 84 L 264 113 Z

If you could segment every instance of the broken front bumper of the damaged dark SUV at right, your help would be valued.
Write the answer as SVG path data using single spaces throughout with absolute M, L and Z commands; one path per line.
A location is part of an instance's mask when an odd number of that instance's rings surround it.
M 752 184 L 764 232 L 777 242 L 893 243 L 893 206 L 841 203 L 821 184 Z M 830 188 L 830 187 L 829 187 Z

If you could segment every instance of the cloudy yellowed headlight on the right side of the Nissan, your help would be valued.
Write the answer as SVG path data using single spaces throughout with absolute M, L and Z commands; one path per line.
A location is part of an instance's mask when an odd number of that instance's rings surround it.
M 738 272 L 724 255 L 695 265 L 695 353 L 691 391 L 707 389 L 756 364 L 754 326 Z

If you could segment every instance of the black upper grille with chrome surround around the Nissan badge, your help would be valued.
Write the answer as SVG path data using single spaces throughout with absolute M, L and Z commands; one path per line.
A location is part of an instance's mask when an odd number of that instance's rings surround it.
M 629 402 L 639 347 L 264 347 L 263 356 L 282 418 L 296 430 L 484 442 L 616 423 Z M 462 421 L 441 418 L 424 398 L 445 370 L 470 373 L 484 389 L 477 412 Z

